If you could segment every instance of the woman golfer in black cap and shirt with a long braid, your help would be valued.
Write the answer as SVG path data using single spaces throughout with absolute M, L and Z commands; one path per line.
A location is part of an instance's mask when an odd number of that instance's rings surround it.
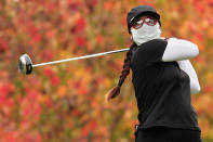
M 190 94 L 200 91 L 189 59 L 198 55 L 190 41 L 161 35 L 160 15 L 148 5 L 128 13 L 128 29 L 133 39 L 124 60 L 118 86 L 107 95 L 117 96 L 132 69 L 138 107 L 136 142 L 201 142 L 197 114 Z

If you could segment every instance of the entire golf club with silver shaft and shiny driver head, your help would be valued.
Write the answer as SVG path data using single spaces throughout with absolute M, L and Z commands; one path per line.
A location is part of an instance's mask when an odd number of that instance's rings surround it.
M 40 63 L 40 64 L 35 64 L 35 65 L 32 65 L 32 62 L 31 62 L 29 55 L 28 54 L 24 54 L 24 55 L 22 55 L 19 57 L 19 61 L 18 61 L 18 70 L 22 74 L 29 75 L 29 74 L 31 74 L 34 67 L 44 66 L 44 65 L 51 65 L 51 64 L 57 64 L 57 63 L 64 63 L 64 62 L 68 62 L 68 61 L 91 59 L 91 57 L 101 56 L 101 55 L 105 55 L 105 54 L 112 54 L 112 53 L 118 53 L 118 52 L 124 52 L 124 51 L 128 51 L 128 50 L 129 50 L 129 48 L 128 49 L 121 49 L 121 50 L 103 52 L 103 53 L 95 53 L 95 54 L 90 54 L 90 55 L 70 57 L 70 59 L 66 59 L 66 60 L 59 60 L 59 61 Z

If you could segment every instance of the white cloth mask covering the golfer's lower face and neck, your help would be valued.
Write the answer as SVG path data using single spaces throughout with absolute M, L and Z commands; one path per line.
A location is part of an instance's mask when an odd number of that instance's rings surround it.
M 148 26 L 147 24 L 144 24 L 138 29 L 131 29 L 133 41 L 141 46 L 142 43 L 149 41 L 151 39 L 160 38 L 161 29 L 159 23 L 157 23 L 155 26 Z

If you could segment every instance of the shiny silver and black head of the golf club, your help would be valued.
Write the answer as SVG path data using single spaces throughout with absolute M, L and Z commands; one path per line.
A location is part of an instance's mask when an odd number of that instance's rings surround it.
M 22 74 L 29 75 L 32 72 L 32 63 L 29 55 L 24 54 L 19 57 L 18 70 Z

